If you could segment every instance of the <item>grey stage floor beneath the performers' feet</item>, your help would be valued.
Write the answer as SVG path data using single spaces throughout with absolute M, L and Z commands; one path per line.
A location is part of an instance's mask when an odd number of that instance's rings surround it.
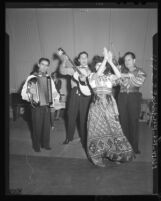
M 25 195 L 149 195 L 153 189 L 152 129 L 140 122 L 141 154 L 130 163 L 94 167 L 86 158 L 75 132 L 75 141 L 63 145 L 64 120 L 51 130 L 52 150 L 32 149 L 30 131 L 22 117 L 10 121 L 10 192 Z

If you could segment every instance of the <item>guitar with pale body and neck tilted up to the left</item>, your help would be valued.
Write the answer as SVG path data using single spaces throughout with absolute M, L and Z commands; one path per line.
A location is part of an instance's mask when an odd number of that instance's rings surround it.
M 59 48 L 57 53 L 58 53 L 59 56 L 62 56 L 62 55 L 67 56 L 68 60 L 72 64 L 73 70 L 75 72 L 77 72 L 80 76 L 84 76 L 83 73 L 77 68 L 77 66 L 74 64 L 74 62 L 70 59 L 70 57 L 66 54 L 66 52 L 62 48 Z M 83 95 L 85 95 L 85 96 L 90 96 L 91 95 L 91 90 L 90 90 L 89 86 L 86 83 L 81 82 L 79 80 L 78 85 L 79 85 L 80 92 Z

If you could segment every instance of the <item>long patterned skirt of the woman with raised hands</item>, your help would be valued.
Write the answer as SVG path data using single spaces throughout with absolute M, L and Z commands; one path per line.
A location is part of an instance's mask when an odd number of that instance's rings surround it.
M 87 156 L 96 166 L 104 167 L 104 159 L 129 162 L 135 158 L 134 151 L 123 134 L 116 102 L 99 99 L 91 103 L 87 122 Z

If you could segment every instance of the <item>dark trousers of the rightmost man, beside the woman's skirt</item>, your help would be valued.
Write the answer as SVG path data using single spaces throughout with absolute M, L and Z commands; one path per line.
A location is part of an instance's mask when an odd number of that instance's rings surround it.
M 119 93 L 118 111 L 123 132 L 135 152 L 139 147 L 139 115 L 141 110 L 141 96 L 137 93 Z

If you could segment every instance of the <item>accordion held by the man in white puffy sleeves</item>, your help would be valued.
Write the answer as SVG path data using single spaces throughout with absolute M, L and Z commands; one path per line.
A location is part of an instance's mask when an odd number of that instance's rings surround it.
M 29 99 L 33 107 L 50 106 L 53 103 L 50 76 L 37 76 L 27 83 Z M 34 91 L 34 93 L 32 93 Z

